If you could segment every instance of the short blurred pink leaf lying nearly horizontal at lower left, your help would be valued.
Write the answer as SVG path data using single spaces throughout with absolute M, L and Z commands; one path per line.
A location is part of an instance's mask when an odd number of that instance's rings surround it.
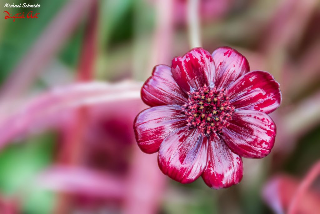
M 79 167 L 49 168 L 36 177 L 34 185 L 53 191 L 108 199 L 122 199 L 125 194 L 125 180 L 122 177 Z

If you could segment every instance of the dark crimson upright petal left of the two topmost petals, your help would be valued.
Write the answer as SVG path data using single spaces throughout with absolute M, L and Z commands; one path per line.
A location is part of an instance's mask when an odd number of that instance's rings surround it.
M 184 56 L 172 59 L 173 78 L 185 91 L 199 87 L 213 86 L 215 64 L 210 53 L 201 47 L 193 48 Z

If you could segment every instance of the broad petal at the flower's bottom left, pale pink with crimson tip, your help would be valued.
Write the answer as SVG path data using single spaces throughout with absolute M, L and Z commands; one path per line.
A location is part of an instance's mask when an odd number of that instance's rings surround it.
M 198 129 L 182 128 L 167 137 L 158 153 L 161 171 L 183 184 L 195 181 L 207 164 L 208 141 Z

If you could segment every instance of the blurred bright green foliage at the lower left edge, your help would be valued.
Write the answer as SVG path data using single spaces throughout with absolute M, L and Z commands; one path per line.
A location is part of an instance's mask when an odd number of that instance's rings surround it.
M 28 182 L 52 162 L 52 134 L 44 134 L 19 144 L 11 144 L 0 153 L 0 189 L 4 195 L 28 190 L 23 209 L 30 214 L 50 213 L 53 195 L 28 189 Z

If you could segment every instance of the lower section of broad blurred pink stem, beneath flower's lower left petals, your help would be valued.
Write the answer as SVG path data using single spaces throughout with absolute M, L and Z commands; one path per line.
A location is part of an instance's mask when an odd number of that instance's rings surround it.
M 127 177 L 123 213 L 158 213 L 165 181 L 166 177 L 157 164 L 157 154 L 143 153 L 135 142 L 131 168 Z

